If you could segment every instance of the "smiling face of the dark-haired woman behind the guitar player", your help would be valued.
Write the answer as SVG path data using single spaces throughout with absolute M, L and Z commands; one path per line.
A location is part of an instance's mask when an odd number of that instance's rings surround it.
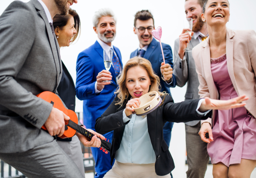
M 67 25 L 64 26 L 62 29 L 58 30 L 58 44 L 60 47 L 63 46 L 70 46 L 70 42 L 72 41 L 72 38 L 74 34 L 76 34 L 76 29 L 75 29 L 75 21 L 74 17 L 69 15 L 70 19 L 67 21 Z

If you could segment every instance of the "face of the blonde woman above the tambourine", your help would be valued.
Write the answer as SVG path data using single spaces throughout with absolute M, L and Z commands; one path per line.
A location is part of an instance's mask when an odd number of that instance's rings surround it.
M 148 72 L 144 68 L 135 66 L 128 69 L 125 86 L 132 98 L 140 98 L 142 95 L 148 93 L 150 85 L 151 81 Z

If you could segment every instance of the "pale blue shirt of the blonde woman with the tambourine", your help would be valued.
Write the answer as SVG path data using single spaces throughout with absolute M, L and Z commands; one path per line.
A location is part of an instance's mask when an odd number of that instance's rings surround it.
M 198 111 L 204 98 L 200 99 L 196 112 L 199 115 L 207 115 L 211 110 L 201 113 Z M 147 115 L 132 115 L 131 119 L 123 111 L 125 131 L 119 149 L 116 151 L 115 159 L 120 163 L 151 164 L 156 162 L 156 155 L 151 144 L 148 133 Z

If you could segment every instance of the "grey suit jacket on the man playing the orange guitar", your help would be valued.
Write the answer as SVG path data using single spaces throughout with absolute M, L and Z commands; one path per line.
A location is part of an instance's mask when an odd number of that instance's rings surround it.
M 0 16 L 0 153 L 53 140 L 41 130 L 52 104 L 35 95 L 56 92 L 61 80 L 55 40 L 38 0 L 14 1 Z

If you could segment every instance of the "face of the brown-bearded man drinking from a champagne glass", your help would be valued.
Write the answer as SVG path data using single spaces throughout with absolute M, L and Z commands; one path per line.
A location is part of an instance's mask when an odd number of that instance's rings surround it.
M 203 8 L 198 3 L 198 0 L 187 0 L 185 2 L 185 13 L 187 18 L 193 19 L 193 32 L 198 32 L 204 26 L 204 22 L 202 21 L 201 14 Z

